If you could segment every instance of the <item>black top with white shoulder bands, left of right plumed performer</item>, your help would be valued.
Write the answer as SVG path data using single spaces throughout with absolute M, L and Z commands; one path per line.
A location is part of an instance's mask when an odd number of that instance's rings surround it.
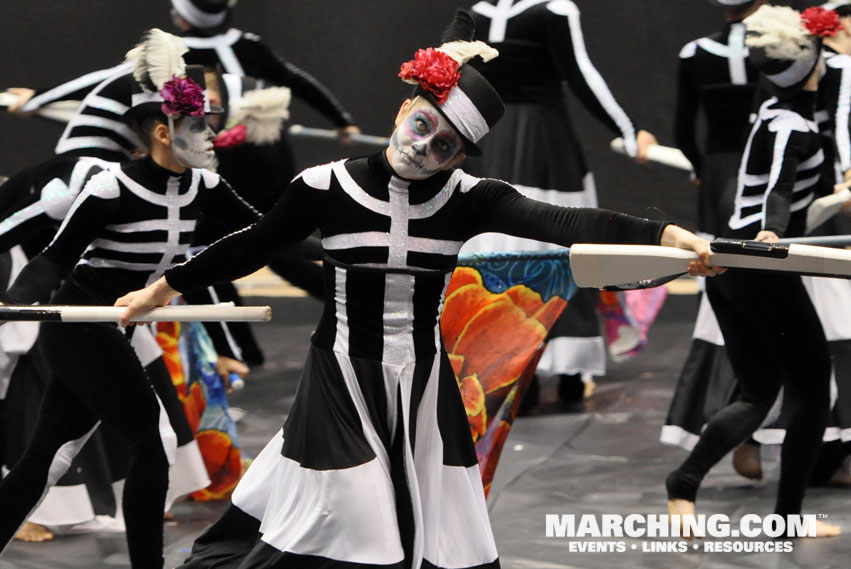
M 700 177 L 703 154 L 741 152 L 754 109 L 757 71 L 747 59 L 745 25 L 730 22 L 680 51 L 674 143 Z M 700 110 L 706 119 L 703 150 L 697 141 Z

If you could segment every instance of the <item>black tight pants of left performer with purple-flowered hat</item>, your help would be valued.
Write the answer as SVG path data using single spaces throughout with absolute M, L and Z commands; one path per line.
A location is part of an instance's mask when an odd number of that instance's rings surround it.
M 160 407 L 138 357 L 112 324 L 44 324 L 41 334 L 53 376 L 30 446 L 0 482 L 0 547 L 41 499 L 59 448 L 100 420 L 129 450 L 123 503 L 132 566 L 161 567 L 168 461 Z

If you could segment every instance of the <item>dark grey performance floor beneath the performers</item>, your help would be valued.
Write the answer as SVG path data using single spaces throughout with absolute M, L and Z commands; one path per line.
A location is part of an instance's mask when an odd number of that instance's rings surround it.
M 248 411 L 240 424 L 240 443 L 254 456 L 281 426 L 295 392 L 307 341 L 320 305 L 304 298 L 253 298 L 271 304 L 273 322 L 256 330 L 268 356 L 266 366 L 247 380 L 231 403 Z M 636 359 L 610 363 L 596 394 L 584 405 L 564 409 L 555 386 L 544 385 L 538 414 L 517 420 L 503 452 L 488 505 L 506 569 L 652 568 L 772 569 L 851 566 L 851 489 L 813 489 L 806 513 L 826 514 L 845 535 L 800 539 L 789 553 L 713 553 L 699 540 L 685 553 L 651 553 L 646 546 L 679 538 L 623 538 L 625 552 L 571 552 L 571 542 L 546 537 L 546 514 L 663 514 L 663 480 L 684 458 L 658 442 L 659 429 L 679 368 L 689 345 L 696 314 L 694 296 L 669 296 L 651 329 L 649 344 Z M 751 483 L 737 476 L 725 458 L 707 477 L 698 496 L 698 513 L 742 515 L 771 512 L 777 480 L 777 449 L 764 452 L 765 478 Z M 181 503 L 165 527 L 166 567 L 185 557 L 193 539 L 212 522 L 223 503 Z M 593 538 L 585 543 L 600 541 Z M 614 540 L 617 541 L 617 540 Z M 587 545 L 586 545 L 587 547 Z M 0 569 L 129 567 L 123 534 L 62 536 L 43 544 L 13 543 L 0 557 Z

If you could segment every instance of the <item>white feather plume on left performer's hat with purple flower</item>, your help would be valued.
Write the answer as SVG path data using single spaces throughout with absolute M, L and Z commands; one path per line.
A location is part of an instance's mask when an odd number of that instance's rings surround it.
M 133 77 L 147 88 L 157 91 L 174 76 L 186 74 L 183 54 L 189 51 L 183 39 L 152 28 L 145 34 L 142 43 L 127 52 L 125 61 L 133 69 Z

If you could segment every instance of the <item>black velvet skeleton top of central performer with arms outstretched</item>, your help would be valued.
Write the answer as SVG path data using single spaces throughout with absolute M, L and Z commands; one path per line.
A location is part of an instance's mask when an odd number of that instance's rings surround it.
M 169 269 L 178 291 L 239 278 L 281 247 L 319 229 L 330 264 L 379 271 L 449 273 L 467 239 L 498 231 L 564 246 L 658 244 L 665 223 L 522 196 L 505 182 L 462 170 L 421 181 L 394 175 L 383 152 L 302 172 L 251 227 Z

